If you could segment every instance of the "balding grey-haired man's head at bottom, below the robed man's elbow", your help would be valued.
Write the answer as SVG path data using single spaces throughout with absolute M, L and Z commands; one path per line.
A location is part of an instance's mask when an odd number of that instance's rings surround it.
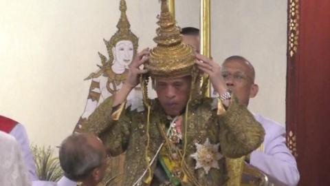
M 58 181 L 58 186 L 67 185 L 70 180 L 82 182 L 85 186 L 97 185 L 107 167 L 105 148 L 93 134 L 72 134 L 65 138 L 59 159 L 65 177 Z

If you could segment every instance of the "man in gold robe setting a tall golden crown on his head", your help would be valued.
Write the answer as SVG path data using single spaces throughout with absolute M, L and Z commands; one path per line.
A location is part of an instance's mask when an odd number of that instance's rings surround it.
M 166 0 L 161 9 L 157 46 L 135 56 L 122 88 L 76 132 L 100 136 L 111 156 L 126 152 L 123 185 L 228 185 L 226 158 L 249 154 L 265 132 L 228 91 L 220 66 L 182 43 Z M 217 107 L 201 95 L 202 73 L 220 95 Z M 149 77 L 154 100 L 146 90 Z M 126 97 L 139 82 L 144 111 L 125 110 Z

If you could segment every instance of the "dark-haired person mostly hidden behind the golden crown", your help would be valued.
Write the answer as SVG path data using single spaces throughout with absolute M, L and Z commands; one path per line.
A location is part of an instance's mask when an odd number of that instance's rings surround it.
M 181 28 L 180 34 L 182 35 L 184 43 L 190 45 L 195 50 L 195 52 L 199 54 L 199 29 L 194 27 Z

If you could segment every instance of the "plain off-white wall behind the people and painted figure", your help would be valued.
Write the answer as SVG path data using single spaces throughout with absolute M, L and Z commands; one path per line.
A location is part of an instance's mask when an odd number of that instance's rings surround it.
M 140 49 L 153 47 L 158 1 L 126 0 Z M 248 3 L 250 2 L 250 3 Z M 58 145 L 83 113 L 89 81 L 116 31 L 119 0 L 0 0 L 0 114 L 30 140 Z M 251 109 L 285 121 L 286 1 L 212 1 L 212 55 L 246 56 L 261 92 Z M 181 27 L 199 26 L 199 1 L 177 0 Z

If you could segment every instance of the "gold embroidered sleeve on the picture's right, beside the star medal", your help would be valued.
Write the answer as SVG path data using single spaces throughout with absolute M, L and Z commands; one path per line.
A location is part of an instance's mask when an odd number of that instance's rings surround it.
M 265 131 L 247 107 L 234 96 L 228 110 L 219 116 L 219 140 L 222 153 L 228 158 L 249 154 L 263 143 Z

